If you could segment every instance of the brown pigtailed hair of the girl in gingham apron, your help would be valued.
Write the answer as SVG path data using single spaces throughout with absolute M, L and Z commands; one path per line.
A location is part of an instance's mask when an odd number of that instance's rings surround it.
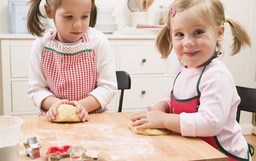
M 42 0 L 31 0 L 28 2 L 30 8 L 27 15 L 27 28 L 28 32 L 37 37 L 42 37 L 45 32 L 45 24 L 41 22 L 41 18 L 47 18 L 47 15 L 42 15 L 39 6 Z M 70 0 L 67 0 L 70 1 Z M 97 21 L 97 7 L 95 6 L 95 0 L 92 1 L 91 14 L 90 14 L 90 27 L 95 27 Z M 60 7 L 65 0 L 46 0 L 46 4 L 51 6 L 53 15 L 56 13 L 56 9 Z

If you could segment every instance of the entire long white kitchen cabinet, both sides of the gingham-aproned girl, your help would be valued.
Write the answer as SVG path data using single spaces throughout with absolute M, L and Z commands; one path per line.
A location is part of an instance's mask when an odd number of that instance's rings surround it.
M 171 60 L 161 59 L 155 49 L 154 35 L 107 35 L 110 41 L 116 70 L 127 71 L 131 76 L 131 90 L 125 90 L 123 111 L 139 111 L 152 106 L 164 97 L 172 84 L 173 71 L 168 70 Z M 31 35 L 2 34 L 2 110 L 3 115 L 37 115 L 38 108 L 27 96 L 28 67 Z M 173 64 L 175 68 L 176 64 Z M 116 112 L 120 91 L 107 106 Z

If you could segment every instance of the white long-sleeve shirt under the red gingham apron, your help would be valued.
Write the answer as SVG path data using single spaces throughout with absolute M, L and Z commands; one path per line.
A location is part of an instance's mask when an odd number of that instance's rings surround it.
M 54 96 L 49 90 L 43 69 L 41 66 L 41 57 L 45 43 L 50 38 L 51 32 L 46 33 L 42 38 L 33 41 L 32 51 L 29 62 L 28 96 L 33 103 L 41 108 L 42 101 L 48 96 Z M 114 61 L 112 59 L 109 40 L 106 35 L 94 28 L 88 28 L 88 38 L 91 48 L 95 50 L 95 64 L 98 72 L 97 87 L 89 95 L 94 96 L 100 102 L 102 108 L 111 102 L 117 91 L 117 81 Z M 67 43 L 65 45 L 74 45 L 80 43 Z M 62 43 L 63 44 L 63 43 Z

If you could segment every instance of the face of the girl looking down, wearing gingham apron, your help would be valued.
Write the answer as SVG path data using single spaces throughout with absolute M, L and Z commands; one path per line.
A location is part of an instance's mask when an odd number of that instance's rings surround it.
M 91 6 L 91 0 L 67 0 L 57 8 L 53 17 L 53 12 L 45 5 L 48 17 L 55 23 L 58 41 L 72 43 L 82 38 L 89 27 Z

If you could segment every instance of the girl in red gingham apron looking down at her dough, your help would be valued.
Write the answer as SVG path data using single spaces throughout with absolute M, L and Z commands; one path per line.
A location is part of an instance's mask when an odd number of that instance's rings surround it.
M 117 91 L 109 41 L 93 28 L 95 0 L 46 0 L 47 17 L 56 27 L 47 33 L 40 3 L 29 1 L 27 27 L 38 38 L 32 45 L 28 96 L 49 121 L 62 104 L 75 106 L 81 122 L 88 121 L 88 113 L 107 110 Z

